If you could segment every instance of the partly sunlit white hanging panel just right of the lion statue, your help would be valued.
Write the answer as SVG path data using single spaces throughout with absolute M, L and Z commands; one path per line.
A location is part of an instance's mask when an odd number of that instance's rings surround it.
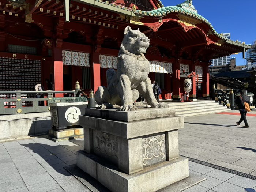
M 173 73 L 172 63 L 166 63 L 161 61 L 149 61 L 150 72 L 153 73 Z

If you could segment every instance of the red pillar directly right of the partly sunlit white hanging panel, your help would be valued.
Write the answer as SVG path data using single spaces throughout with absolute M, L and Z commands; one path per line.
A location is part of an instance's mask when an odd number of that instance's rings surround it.
M 180 64 L 173 63 L 173 101 L 180 101 Z

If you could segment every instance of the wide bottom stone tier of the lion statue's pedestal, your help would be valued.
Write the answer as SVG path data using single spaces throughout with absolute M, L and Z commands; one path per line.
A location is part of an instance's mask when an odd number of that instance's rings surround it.
M 188 159 L 177 158 L 125 174 L 93 154 L 77 152 L 77 166 L 112 192 L 154 192 L 188 177 Z

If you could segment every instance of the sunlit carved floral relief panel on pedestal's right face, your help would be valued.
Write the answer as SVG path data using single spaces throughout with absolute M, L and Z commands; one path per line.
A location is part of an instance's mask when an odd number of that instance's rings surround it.
M 159 134 L 159 133 L 158 133 Z M 143 138 L 143 166 L 165 161 L 165 134 L 147 135 Z

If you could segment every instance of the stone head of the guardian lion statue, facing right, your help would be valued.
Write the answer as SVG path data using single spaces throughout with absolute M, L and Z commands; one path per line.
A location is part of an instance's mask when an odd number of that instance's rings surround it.
M 140 30 L 132 30 L 130 26 L 127 26 L 124 30 L 124 39 L 121 44 L 119 54 L 127 54 L 127 52 L 141 55 L 146 53 L 149 47 L 149 39 Z

